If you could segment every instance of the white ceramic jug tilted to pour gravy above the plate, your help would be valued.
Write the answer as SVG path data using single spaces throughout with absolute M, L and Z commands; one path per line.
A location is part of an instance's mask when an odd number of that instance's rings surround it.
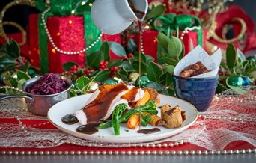
M 137 21 L 134 8 L 147 13 L 147 7 L 147 0 L 95 0 L 91 7 L 91 17 L 103 33 L 119 34 Z

